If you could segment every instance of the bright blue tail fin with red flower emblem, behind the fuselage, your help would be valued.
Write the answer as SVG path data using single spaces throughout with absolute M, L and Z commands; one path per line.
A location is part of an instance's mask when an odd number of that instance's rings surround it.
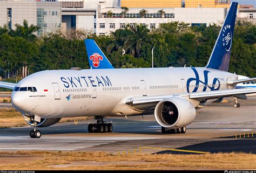
M 85 39 L 87 56 L 92 69 L 114 68 L 93 39 Z

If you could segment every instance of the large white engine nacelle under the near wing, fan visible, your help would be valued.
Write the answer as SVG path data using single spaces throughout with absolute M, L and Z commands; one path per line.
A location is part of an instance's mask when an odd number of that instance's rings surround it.
M 196 117 L 196 109 L 191 102 L 178 97 L 157 103 L 154 117 L 165 128 L 180 128 L 190 124 Z

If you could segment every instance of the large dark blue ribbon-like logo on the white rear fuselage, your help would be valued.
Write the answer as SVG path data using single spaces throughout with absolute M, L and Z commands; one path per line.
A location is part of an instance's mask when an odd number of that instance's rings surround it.
M 196 85 L 193 85 L 194 89 L 193 89 L 192 93 L 197 92 L 199 86 L 202 84 L 204 86 L 203 92 L 206 91 L 207 88 L 210 88 L 211 91 L 216 91 L 216 90 L 220 89 L 220 81 L 218 78 L 214 78 L 212 81 L 212 85 L 208 85 L 208 73 L 210 73 L 209 71 L 207 71 L 207 70 L 204 71 L 204 81 L 201 81 L 196 68 L 192 67 L 191 69 L 193 70 L 194 74 L 196 75 L 196 78 L 187 79 L 187 93 L 190 93 L 190 82 L 192 82 L 192 81 L 196 81 Z

